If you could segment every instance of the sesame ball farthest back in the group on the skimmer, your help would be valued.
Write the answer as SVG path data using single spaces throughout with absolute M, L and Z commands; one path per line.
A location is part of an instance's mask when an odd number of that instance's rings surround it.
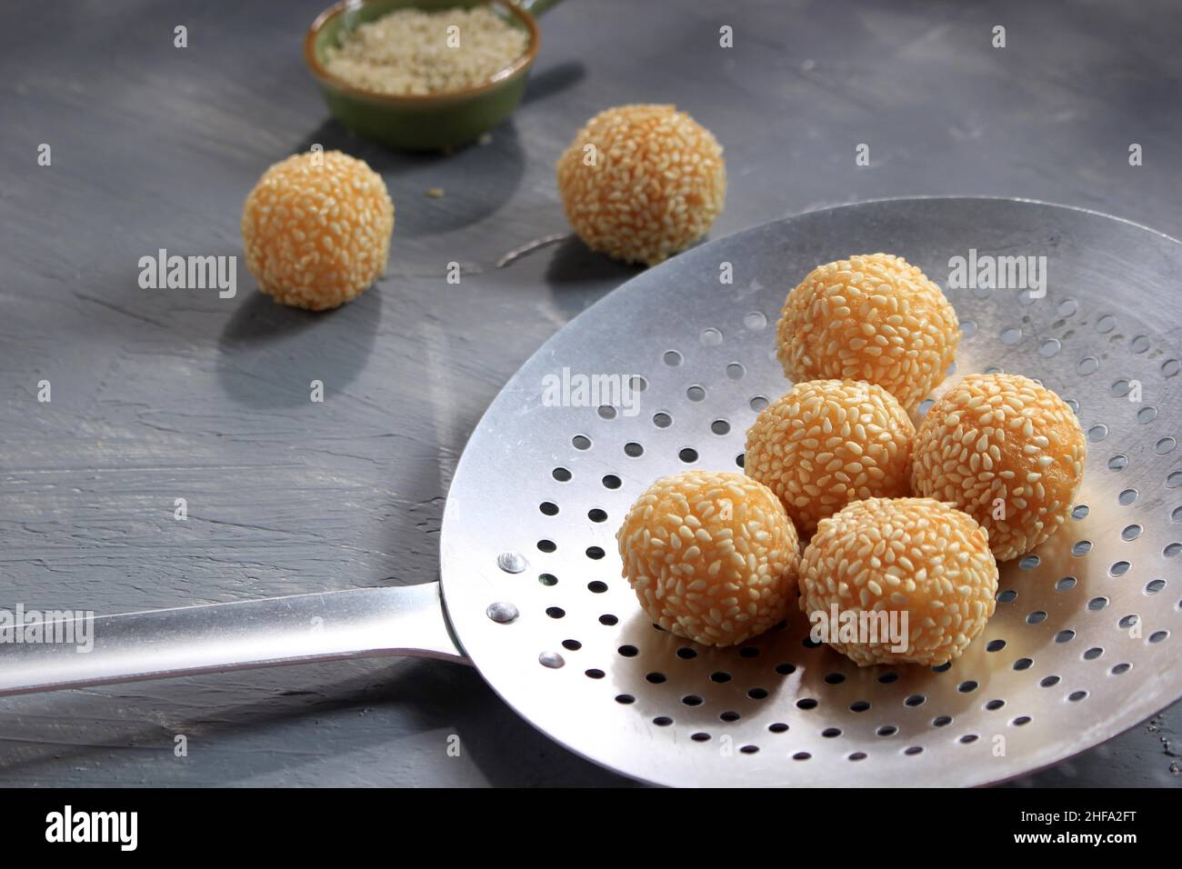
M 944 378 L 960 325 L 940 287 L 902 257 L 811 271 L 784 303 L 777 355 L 793 381 L 868 381 L 911 410 Z

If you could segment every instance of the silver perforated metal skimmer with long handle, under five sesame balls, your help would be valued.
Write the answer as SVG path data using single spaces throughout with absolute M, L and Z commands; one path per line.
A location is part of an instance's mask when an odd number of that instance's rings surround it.
M 785 294 L 820 262 L 875 251 L 942 285 L 970 251 L 1046 257 L 1044 298 L 948 296 L 960 374 L 1024 374 L 1078 413 L 1089 459 L 1072 519 L 1001 565 L 996 614 L 942 668 L 858 668 L 808 643 L 795 611 L 736 648 L 655 628 L 619 577 L 624 512 L 658 476 L 741 467 L 747 427 L 790 385 L 774 358 Z M 1052 764 L 1182 694 L 1180 274 L 1168 236 L 1014 200 L 862 203 L 701 246 L 576 318 L 493 402 L 444 512 L 447 621 L 434 585 L 115 616 L 91 655 L 2 649 L 0 692 L 462 654 L 551 738 L 651 783 L 976 785 Z M 552 407 L 544 384 L 563 369 L 632 378 L 638 411 Z

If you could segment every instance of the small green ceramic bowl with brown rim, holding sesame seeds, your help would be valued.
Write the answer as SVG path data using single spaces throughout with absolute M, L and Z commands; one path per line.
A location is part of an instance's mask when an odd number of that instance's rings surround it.
M 514 4 L 508 0 L 343 0 L 325 9 L 304 38 L 304 59 L 320 85 L 329 111 L 355 132 L 391 148 L 430 151 L 474 142 L 507 118 L 521 102 L 526 76 L 538 54 L 541 34 L 534 14 L 558 0 Z M 424 12 L 487 4 L 511 24 L 530 33 L 525 54 L 476 87 L 447 93 L 395 97 L 374 93 L 329 74 L 325 50 L 358 25 L 398 8 Z

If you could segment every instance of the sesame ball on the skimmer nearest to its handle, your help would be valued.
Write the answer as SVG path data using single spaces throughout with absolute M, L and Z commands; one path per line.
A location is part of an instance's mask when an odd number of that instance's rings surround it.
M 800 562 L 779 499 L 742 474 L 689 471 L 642 494 L 616 533 L 623 576 L 649 618 L 706 646 L 780 622 Z

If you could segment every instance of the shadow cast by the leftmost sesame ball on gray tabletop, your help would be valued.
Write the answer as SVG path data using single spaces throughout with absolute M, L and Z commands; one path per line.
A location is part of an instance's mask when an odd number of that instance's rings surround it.
M 307 404 L 311 382 L 327 394 L 357 376 L 374 346 L 382 293 L 370 288 L 332 311 L 304 311 L 252 292 L 217 342 L 217 380 L 247 408 Z

